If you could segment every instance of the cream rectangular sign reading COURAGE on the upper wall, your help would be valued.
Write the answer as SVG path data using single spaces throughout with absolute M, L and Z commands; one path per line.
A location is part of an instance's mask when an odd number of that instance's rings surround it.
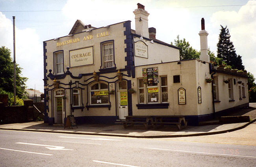
M 93 64 L 93 46 L 69 51 L 70 67 Z

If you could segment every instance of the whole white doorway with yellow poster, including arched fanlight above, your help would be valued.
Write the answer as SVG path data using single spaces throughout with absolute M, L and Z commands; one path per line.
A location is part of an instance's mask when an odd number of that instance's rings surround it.
M 118 84 L 118 108 L 119 119 L 125 119 L 128 116 L 128 94 L 126 81 L 120 81 Z

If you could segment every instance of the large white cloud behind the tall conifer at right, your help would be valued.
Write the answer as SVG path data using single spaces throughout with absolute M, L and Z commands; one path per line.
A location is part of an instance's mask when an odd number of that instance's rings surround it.
M 247 71 L 256 76 L 256 0 L 250 0 L 236 11 L 218 11 L 211 17 L 213 28 L 227 26 L 230 40 L 236 48 L 237 55 L 242 56 L 243 65 Z M 219 31 L 220 32 L 220 31 Z

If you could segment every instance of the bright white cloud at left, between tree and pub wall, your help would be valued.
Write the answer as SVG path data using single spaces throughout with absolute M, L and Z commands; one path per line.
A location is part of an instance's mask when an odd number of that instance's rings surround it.
M 13 22 L 0 12 L 0 46 L 11 50 L 13 58 Z M 43 92 L 43 45 L 35 29 L 15 27 L 16 63 L 20 65 L 22 76 L 28 77 L 26 86 Z

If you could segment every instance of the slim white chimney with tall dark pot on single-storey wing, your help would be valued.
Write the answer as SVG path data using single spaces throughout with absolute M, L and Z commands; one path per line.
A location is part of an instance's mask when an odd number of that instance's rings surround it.
M 204 18 L 201 20 L 201 31 L 199 31 L 200 36 L 200 46 L 201 46 L 201 54 L 200 60 L 205 62 L 210 62 L 210 56 L 208 55 L 208 44 L 207 44 L 207 36 L 208 33 L 204 28 Z

